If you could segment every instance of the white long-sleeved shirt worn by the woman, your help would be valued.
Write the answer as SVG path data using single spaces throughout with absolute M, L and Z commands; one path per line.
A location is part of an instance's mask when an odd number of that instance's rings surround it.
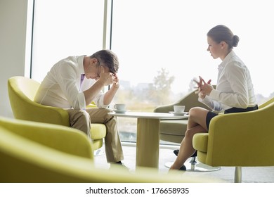
M 216 111 L 256 106 L 249 70 L 234 51 L 228 53 L 218 65 L 216 89 L 199 101 Z

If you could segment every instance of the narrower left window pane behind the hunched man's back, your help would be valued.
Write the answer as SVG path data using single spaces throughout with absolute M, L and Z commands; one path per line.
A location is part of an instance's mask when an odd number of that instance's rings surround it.
M 41 82 L 67 56 L 102 49 L 103 1 L 37 0 L 34 7 L 32 78 Z

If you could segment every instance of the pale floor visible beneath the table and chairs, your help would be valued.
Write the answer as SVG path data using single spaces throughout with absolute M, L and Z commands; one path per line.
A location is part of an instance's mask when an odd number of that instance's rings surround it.
M 174 161 L 176 155 L 174 155 L 174 149 L 177 149 L 177 146 L 167 147 L 161 146 L 159 151 L 159 172 L 168 172 L 169 168 L 165 167 L 165 163 Z M 130 170 L 135 170 L 136 162 L 136 147 L 129 146 L 128 144 L 123 144 L 124 151 L 124 165 L 129 167 Z M 100 149 L 101 155 L 94 157 L 96 165 L 98 167 L 110 167 L 107 164 L 105 158 L 104 147 Z M 200 167 L 207 167 L 199 163 Z M 221 170 L 214 172 L 185 172 L 193 176 L 205 176 L 205 177 L 216 177 L 218 179 L 223 179 L 224 182 L 234 182 L 234 170 L 235 167 L 221 167 Z M 272 167 L 242 167 L 242 182 L 245 183 L 274 183 L 274 166 Z

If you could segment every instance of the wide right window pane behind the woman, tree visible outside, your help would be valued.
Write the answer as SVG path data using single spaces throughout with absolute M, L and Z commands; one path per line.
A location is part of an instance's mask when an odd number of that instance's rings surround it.
M 262 80 L 263 76 L 273 83 L 270 8 L 266 0 L 115 0 L 112 50 L 119 55 L 119 77 L 124 80 L 117 102 L 131 110 L 152 111 L 178 100 L 190 89 L 193 77 L 201 75 L 216 84 L 221 61 L 207 51 L 207 32 L 222 24 L 240 37 L 235 52 L 249 67 L 262 103 L 273 92 Z M 135 122 L 123 121 L 122 132 L 133 134 Z

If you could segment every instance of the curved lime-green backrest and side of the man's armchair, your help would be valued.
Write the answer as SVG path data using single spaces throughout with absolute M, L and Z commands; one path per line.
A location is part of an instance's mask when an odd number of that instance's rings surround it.
M 14 117 L 20 120 L 70 126 L 66 110 L 34 102 L 39 85 L 39 82 L 22 76 L 8 79 L 8 96 Z

